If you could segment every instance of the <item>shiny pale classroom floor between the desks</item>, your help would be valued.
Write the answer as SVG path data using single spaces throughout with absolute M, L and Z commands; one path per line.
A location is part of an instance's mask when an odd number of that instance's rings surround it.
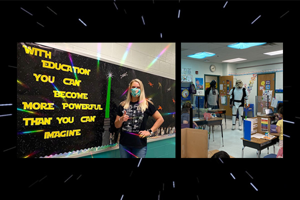
M 224 140 L 224 146 L 222 146 L 222 137 L 221 137 L 221 128 L 220 125 L 214 126 L 213 136 L 214 141 L 212 138 L 212 133 L 210 134 L 210 139 L 208 141 L 208 151 L 209 150 L 223 150 L 227 152 L 229 155 L 233 157 L 241 157 L 241 148 L 242 148 L 242 140 L 240 139 L 243 137 L 243 130 L 238 129 L 238 120 L 236 120 L 235 130 L 231 130 L 232 127 L 232 120 L 226 118 L 226 125 L 227 128 L 225 128 L 225 120 L 222 120 L 223 124 L 223 140 Z M 206 126 L 206 129 L 209 130 L 209 128 Z M 273 147 L 269 147 L 269 153 L 275 153 L 277 154 L 279 147 L 278 142 L 275 146 L 275 152 L 273 151 Z M 261 150 L 260 158 L 263 158 L 265 155 L 267 155 L 267 148 Z M 245 147 L 244 158 L 256 158 L 256 149 Z

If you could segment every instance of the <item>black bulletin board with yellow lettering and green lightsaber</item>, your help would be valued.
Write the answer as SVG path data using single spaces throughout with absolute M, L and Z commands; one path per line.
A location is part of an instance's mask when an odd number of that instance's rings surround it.
M 134 78 L 143 82 L 145 96 L 164 118 L 154 134 L 173 132 L 175 80 L 35 43 L 17 43 L 17 157 L 115 143 L 116 109 Z M 154 122 L 149 117 L 146 129 Z

